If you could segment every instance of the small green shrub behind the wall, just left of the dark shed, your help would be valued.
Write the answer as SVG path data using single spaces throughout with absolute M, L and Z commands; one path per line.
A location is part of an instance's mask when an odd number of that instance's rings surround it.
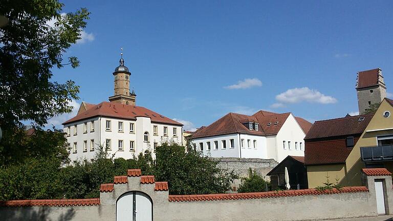
M 268 189 L 266 189 L 266 186 Z M 265 181 L 250 168 L 248 177 L 242 178 L 242 183 L 239 186 L 238 192 L 265 192 L 268 191 L 270 187 L 270 182 Z

